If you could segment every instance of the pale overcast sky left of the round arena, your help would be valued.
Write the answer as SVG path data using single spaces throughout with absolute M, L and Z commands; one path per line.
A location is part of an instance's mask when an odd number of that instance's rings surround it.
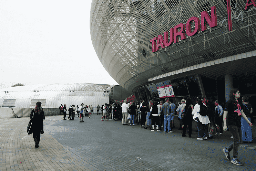
M 16 83 L 119 85 L 90 35 L 91 0 L 0 1 L 0 88 Z

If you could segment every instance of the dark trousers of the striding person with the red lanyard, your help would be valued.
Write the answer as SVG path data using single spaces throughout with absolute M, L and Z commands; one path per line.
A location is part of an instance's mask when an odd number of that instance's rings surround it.
M 242 142 L 242 131 L 241 127 L 238 127 L 236 125 L 228 125 L 228 129 L 230 130 L 230 133 L 233 136 L 234 142 L 229 145 L 227 150 L 230 152 L 233 149 L 233 157 L 237 158 L 237 151 L 240 143 Z

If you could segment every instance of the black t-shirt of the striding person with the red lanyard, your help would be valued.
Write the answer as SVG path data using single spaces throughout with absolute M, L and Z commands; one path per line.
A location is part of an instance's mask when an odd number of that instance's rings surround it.
M 239 104 L 239 109 L 243 110 L 243 103 L 241 100 L 238 100 Z M 232 102 L 232 100 L 228 100 L 226 105 L 225 105 L 225 111 L 227 111 L 227 125 L 236 125 L 238 127 L 241 127 L 241 115 L 238 116 L 238 113 L 235 112 L 237 111 L 238 106 L 237 106 L 237 101 Z

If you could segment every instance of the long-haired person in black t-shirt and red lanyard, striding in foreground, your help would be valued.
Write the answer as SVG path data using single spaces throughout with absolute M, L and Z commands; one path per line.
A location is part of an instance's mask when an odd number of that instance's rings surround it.
M 231 158 L 229 152 L 233 149 L 233 160 L 231 160 L 231 163 L 243 165 L 243 163 L 237 159 L 238 147 L 239 144 L 242 143 L 241 116 L 246 120 L 249 126 L 253 126 L 253 124 L 247 119 L 243 111 L 244 105 L 242 101 L 239 100 L 239 90 L 236 88 L 231 89 L 229 98 L 230 99 L 226 102 L 223 113 L 223 130 L 227 131 L 228 127 L 233 136 L 234 142 L 232 142 L 228 148 L 224 148 L 222 151 L 224 152 L 226 158 L 230 160 Z

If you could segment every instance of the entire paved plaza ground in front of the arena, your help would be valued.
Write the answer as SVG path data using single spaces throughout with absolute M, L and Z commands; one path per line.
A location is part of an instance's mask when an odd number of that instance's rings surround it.
M 229 132 L 199 141 L 195 122 L 192 138 L 188 138 L 181 137 L 178 120 L 174 132 L 165 133 L 100 119 L 96 114 L 84 117 L 85 122 L 79 122 L 78 117 L 63 120 L 63 116 L 47 116 L 38 149 L 34 147 L 32 135 L 22 139 L 27 134 L 29 118 L 0 119 L 0 170 L 247 171 L 256 168 L 256 124 L 253 143 L 243 143 L 238 149 L 238 159 L 244 165 L 237 166 L 222 152 L 232 142 Z

